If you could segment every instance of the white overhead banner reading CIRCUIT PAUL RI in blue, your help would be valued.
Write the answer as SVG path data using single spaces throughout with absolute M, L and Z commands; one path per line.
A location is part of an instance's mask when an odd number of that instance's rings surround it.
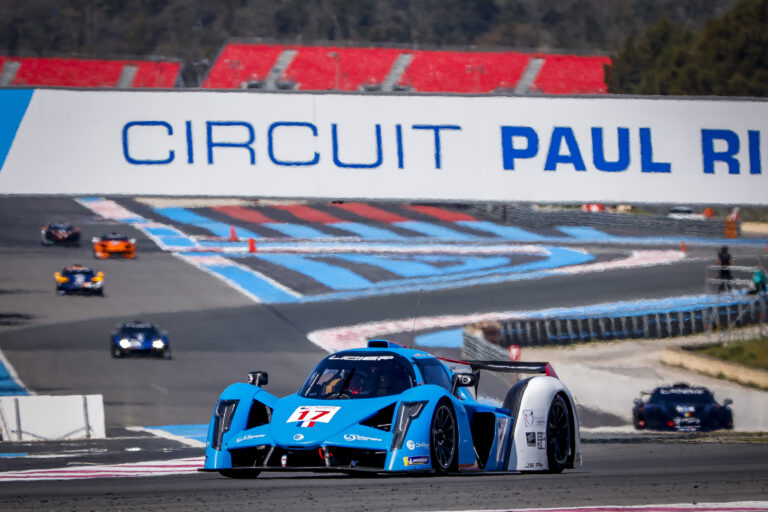
M 768 102 L 0 90 L 0 194 L 766 204 Z

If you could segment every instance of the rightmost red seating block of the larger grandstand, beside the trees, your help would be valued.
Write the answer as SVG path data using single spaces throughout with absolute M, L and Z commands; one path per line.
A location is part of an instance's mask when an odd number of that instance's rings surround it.
M 609 57 L 581 57 L 574 55 L 536 55 L 544 59 L 532 91 L 545 94 L 605 94 L 604 65 Z

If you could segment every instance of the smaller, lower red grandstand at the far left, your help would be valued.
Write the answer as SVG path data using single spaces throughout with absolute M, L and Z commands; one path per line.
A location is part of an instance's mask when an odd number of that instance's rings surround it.
M 0 86 L 170 88 L 181 63 L 170 60 L 104 60 L 0 56 Z

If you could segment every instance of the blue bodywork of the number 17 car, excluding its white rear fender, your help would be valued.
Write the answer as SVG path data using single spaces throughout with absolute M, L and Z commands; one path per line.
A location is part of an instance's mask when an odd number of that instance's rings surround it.
M 351 369 L 342 377 L 347 387 L 320 397 L 321 389 L 333 385 L 330 379 L 322 381 L 333 363 Z M 381 367 L 387 372 L 383 377 Z M 394 387 L 387 382 L 387 387 L 368 384 L 350 390 L 361 373 L 378 370 L 385 381 L 393 368 L 408 373 L 398 374 Z M 510 411 L 478 402 L 471 388 L 475 381 L 454 387 L 453 376 L 426 352 L 373 340 L 368 348 L 326 357 L 298 393 L 284 398 L 256 385 L 232 384 L 214 408 L 204 470 L 227 476 L 240 470 L 505 470 L 512 442 Z M 393 389 L 397 392 L 390 393 Z M 433 442 L 433 421 L 446 405 L 455 419 L 456 449 L 449 467 L 441 468 L 434 460 L 433 445 L 439 443 Z

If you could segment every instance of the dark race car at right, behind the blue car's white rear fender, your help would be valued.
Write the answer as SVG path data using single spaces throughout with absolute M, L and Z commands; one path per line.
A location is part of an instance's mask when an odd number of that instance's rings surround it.
M 643 397 L 646 397 L 644 400 Z M 705 387 L 678 383 L 644 392 L 635 399 L 632 421 L 638 430 L 717 430 L 733 428 L 733 400 L 720 405 Z

